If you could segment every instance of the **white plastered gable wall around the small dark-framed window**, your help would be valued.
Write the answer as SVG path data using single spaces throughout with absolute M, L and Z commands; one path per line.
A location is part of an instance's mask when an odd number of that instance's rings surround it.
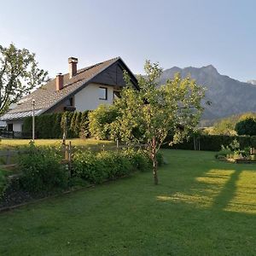
M 108 88 L 107 100 L 99 99 L 99 87 Z M 113 86 L 103 84 L 88 84 L 74 97 L 74 104 L 77 111 L 96 109 L 101 104 L 113 103 Z

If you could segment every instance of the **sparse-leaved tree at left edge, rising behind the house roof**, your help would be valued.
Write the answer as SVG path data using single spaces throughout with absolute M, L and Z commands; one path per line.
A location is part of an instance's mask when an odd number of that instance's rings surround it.
M 38 68 L 35 54 L 28 49 L 0 45 L 0 114 L 21 96 L 46 81 L 47 72 Z

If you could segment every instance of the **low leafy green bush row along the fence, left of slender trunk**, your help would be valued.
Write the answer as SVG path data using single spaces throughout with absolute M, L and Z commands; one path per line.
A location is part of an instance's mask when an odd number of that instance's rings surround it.
M 147 169 L 148 158 L 137 151 L 80 151 L 73 156 L 73 175 L 90 183 L 102 183 L 137 170 Z

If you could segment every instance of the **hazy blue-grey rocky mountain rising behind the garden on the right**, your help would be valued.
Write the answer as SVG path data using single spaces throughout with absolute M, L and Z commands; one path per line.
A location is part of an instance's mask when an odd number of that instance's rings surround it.
M 167 79 L 172 79 L 175 73 L 181 73 L 183 78 L 190 75 L 197 84 L 207 88 L 205 102 L 212 103 L 210 106 L 203 103 L 205 111 L 202 119 L 213 120 L 239 113 L 256 112 L 254 84 L 243 83 L 221 75 L 212 65 L 166 69 L 160 76 L 160 84 L 164 84 Z

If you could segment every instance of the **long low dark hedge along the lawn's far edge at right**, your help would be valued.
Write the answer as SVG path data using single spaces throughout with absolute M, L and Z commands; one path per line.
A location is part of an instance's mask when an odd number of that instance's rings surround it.
M 253 147 L 256 148 L 256 136 L 228 136 L 228 135 L 201 135 L 199 138 L 200 149 L 207 151 L 219 151 L 221 145 L 227 146 L 235 139 L 240 143 L 240 148 Z M 162 148 L 176 148 L 194 150 L 194 138 L 189 137 L 187 141 L 169 146 L 165 143 Z

